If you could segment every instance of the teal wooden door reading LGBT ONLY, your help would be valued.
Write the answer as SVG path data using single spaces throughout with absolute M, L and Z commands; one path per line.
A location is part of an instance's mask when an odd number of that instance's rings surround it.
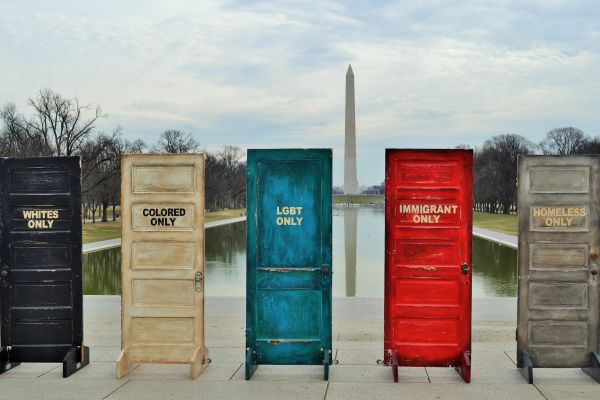
M 331 150 L 248 150 L 246 379 L 331 358 Z

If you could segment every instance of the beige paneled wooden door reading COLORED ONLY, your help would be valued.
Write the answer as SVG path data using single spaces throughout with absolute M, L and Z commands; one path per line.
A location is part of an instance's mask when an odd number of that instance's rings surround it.
M 204 155 L 121 163 L 121 346 L 117 377 L 141 363 L 206 366 Z

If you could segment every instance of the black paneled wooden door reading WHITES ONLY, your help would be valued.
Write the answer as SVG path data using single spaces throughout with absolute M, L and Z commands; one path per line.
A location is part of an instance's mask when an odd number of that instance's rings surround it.
M 20 362 L 88 363 L 83 343 L 79 157 L 3 159 L 0 373 Z

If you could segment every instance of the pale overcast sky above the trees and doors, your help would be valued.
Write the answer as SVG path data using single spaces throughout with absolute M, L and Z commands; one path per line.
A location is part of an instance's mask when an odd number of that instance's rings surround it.
M 330 147 L 336 185 L 349 63 L 361 185 L 386 147 L 600 134 L 597 1 L 0 0 L 0 104 L 49 87 L 148 143 Z

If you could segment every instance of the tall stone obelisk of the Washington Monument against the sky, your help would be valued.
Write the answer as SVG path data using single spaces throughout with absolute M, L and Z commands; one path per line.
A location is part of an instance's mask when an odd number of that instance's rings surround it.
M 354 73 L 346 72 L 346 143 L 344 144 L 344 194 L 358 194 L 356 179 L 356 118 L 354 113 Z

